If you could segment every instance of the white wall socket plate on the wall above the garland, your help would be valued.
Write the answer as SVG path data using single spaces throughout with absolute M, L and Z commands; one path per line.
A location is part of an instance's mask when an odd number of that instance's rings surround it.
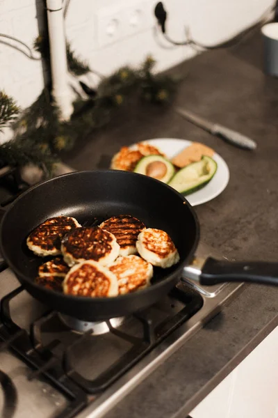
M 97 13 L 98 47 L 105 47 L 151 28 L 155 24 L 152 9 L 152 1 L 101 8 Z

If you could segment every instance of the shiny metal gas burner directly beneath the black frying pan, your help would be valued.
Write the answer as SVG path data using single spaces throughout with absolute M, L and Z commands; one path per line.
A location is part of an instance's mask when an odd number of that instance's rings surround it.
M 76 318 L 73 318 L 72 316 L 67 316 L 64 314 L 58 314 L 60 320 L 63 321 L 67 327 L 70 328 L 70 330 L 73 330 L 75 332 L 78 332 L 79 334 L 83 334 L 84 332 L 88 332 L 89 330 L 92 330 L 94 335 L 101 335 L 106 334 L 106 332 L 110 332 L 111 327 L 103 321 L 103 322 L 88 322 L 79 320 Z M 112 318 L 109 320 L 113 328 L 119 327 L 122 322 L 124 321 L 124 318 Z

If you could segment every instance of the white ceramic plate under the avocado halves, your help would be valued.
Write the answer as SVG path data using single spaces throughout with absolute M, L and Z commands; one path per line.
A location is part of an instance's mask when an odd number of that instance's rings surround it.
M 191 141 L 186 141 L 186 139 L 174 138 L 147 139 L 143 142 L 156 146 L 169 159 L 174 157 L 174 155 L 179 154 L 181 150 L 192 144 Z M 202 203 L 206 203 L 211 199 L 214 199 L 223 192 L 224 188 L 229 183 L 229 168 L 226 162 L 224 162 L 222 157 L 220 157 L 217 153 L 213 155 L 213 160 L 215 160 L 218 164 L 215 176 L 213 176 L 211 181 L 202 189 L 186 196 L 186 199 L 192 206 L 201 205 Z

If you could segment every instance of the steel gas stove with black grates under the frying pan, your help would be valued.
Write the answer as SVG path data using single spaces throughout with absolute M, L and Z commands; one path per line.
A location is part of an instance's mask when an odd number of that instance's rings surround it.
M 26 188 L 14 172 L 0 173 L 0 216 Z M 201 244 L 197 255 L 215 254 Z M 19 286 L 3 260 L 0 281 L 2 418 L 103 417 L 242 286 L 206 288 L 181 277 L 169 295 L 144 311 L 85 323 L 74 312 L 68 317 L 49 311 Z

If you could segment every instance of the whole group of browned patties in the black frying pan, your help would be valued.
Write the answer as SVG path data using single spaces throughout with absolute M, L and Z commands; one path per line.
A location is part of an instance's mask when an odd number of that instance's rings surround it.
M 169 268 L 179 254 L 170 236 L 119 215 L 85 227 L 73 217 L 47 219 L 27 238 L 40 265 L 36 282 L 53 291 L 87 297 L 124 295 L 149 286 L 153 265 Z

